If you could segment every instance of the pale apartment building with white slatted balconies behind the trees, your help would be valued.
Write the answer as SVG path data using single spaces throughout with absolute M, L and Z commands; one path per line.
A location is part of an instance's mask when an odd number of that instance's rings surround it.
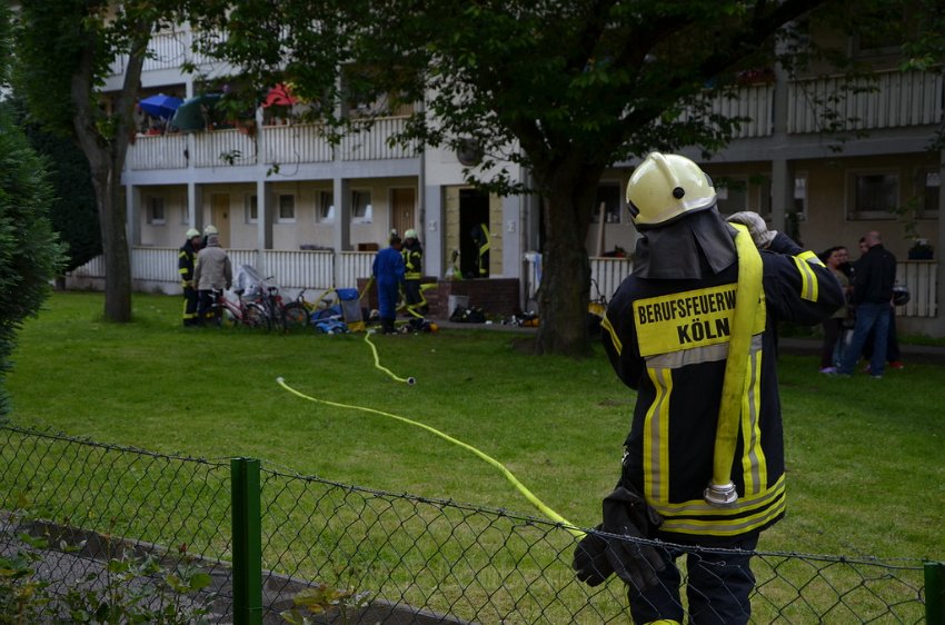
M 862 88 L 840 76 L 812 71 L 788 77 L 778 68 L 746 72 L 734 98 L 715 110 L 745 121 L 727 148 L 709 160 L 693 151 L 713 177 L 722 212 L 749 209 L 770 227 L 786 230 L 817 251 L 857 241 L 878 230 L 901 260 L 898 281 L 912 291 L 901 307 L 906 331 L 945 336 L 938 314 L 942 254 L 909 259 L 945 241 L 941 178 L 945 152 L 931 149 L 943 123 L 945 87 L 935 71 L 897 69 L 897 48 L 857 37 L 818 33 L 874 68 Z M 833 40 L 832 40 L 833 38 Z M 156 36 L 146 60 L 141 98 L 158 93 L 193 98 L 202 89 L 180 71 L 181 59 L 203 76 L 226 68 L 190 52 L 187 31 Z M 119 86 L 121 62 L 105 91 Z M 816 68 L 815 68 L 816 69 Z M 185 232 L 213 224 L 235 264 L 250 264 L 285 287 L 354 286 L 370 274 L 374 251 L 391 229 L 416 229 L 425 247 L 424 274 L 444 279 L 456 272 L 478 278 L 477 244 L 470 231 L 490 235 L 487 280 L 504 281 L 510 301 L 494 312 L 531 309 L 540 281 L 540 201 L 499 197 L 467 185 L 462 169 L 476 165 L 476 149 L 451 152 L 391 145 L 410 110 L 384 110 L 384 102 L 346 103 L 357 119 L 382 111 L 366 130 L 337 145 L 297 113 L 307 105 L 291 89 L 273 86 L 262 106 L 243 122 L 215 125 L 211 102 L 196 109 L 196 125 L 175 131 L 168 119 L 140 111 L 140 132 L 123 173 L 132 245 L 132 276 L 141 288 L 178 289 L 173 258 Z M 188 105 L 185 105 L 188 106 Z M 827 128 L 824 120 L 833 119 Z M 609 298 L 631 267 L 638 237 L 624 191 L 634 162 L 603 176 L 586 247 L 599 295 Z M 521 169 L 511 170 L 524 179 Z M 73 272 L 94 280 L 101 264 Z M 479 279 L 450 282 L 452 294 L 483 294 Z M 509 285 L 514 287 L 509 287 Z M 477 286 L 478 285 L 478 286 Z M 485 288 L 484 288 L 485 287 Z M 517 294 L 517 297 L 516 297 Z M 591 292 L 591 297 L 597 294 Z M 445 299 L 445 298 L 444 298 Z M 475 295 L 470 304 L 477 304 Z M 445 308 L 441 309 L 445 311 Z

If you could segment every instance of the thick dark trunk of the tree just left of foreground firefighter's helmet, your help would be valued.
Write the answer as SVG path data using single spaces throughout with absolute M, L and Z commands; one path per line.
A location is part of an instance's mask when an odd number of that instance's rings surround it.
M 603 167 L 561 166 L 544 186 L 545 231 L 541 284 L 538 289 L 540 324 L 536 354 L 590 356 L 587 305 L 590 299 L 590 262 L 586 239 Z M 539 178 L 540 180 L 541 178 Z

